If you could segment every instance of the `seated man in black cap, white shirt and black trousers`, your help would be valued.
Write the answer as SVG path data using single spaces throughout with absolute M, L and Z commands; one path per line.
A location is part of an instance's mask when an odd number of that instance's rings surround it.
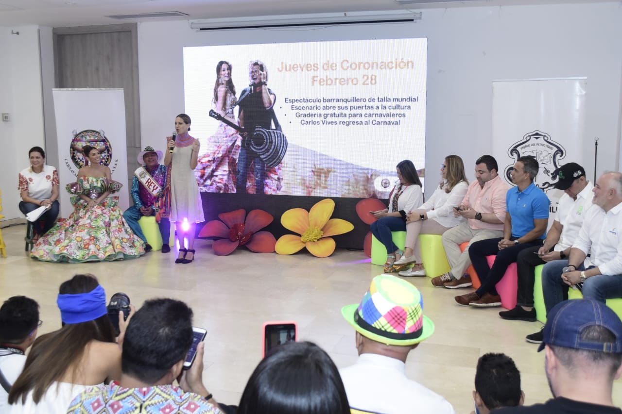
M 577 239 L 585 212 L 592 206 L 594 185 L 585 177 L 583 167 L 569 162 L 557 168 L 552 177 L 558 177 L 554 187 L 564 190 L 559 199 L 557 216 L 547 232 L 542 246 L 528 247 L 518 254 L 518 292 L 516 308 L 499 312 L 503 319 L 535 321 L 534 279 L 536 266 L 552 260 L 567 259 L 570 247 Z

